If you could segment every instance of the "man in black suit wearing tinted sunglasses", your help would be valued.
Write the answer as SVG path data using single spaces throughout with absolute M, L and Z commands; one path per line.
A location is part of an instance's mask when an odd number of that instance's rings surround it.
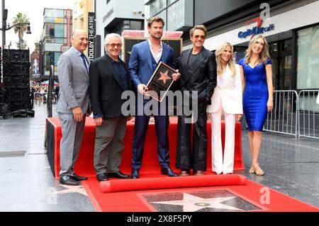
M 183 109 L 192 109 L 191 115 L 186 115 L 184 111 L 179 115 L 176 167 L 181 169 L 180 176 L 188 176 L 191 168 L 194 169 L 194 175 L 203 175 L 203 171 L 206 171 L 206 108 L 217 83 L 215 54 L 203 47 L 206 32 L 205 26 L 195 26 L 191 29 L 193 47 L 191 50 L 181 52 L 181 57 L 177 59 L 175 65 L 181 73 L 179 79 L 181 91 L 186 91 L 184 98 L 187 99 L 183 101 Z M 192 116 L 193 123 L 191 123 Z M 191 139 L 192 124 L 194 124 L 193 139 Z

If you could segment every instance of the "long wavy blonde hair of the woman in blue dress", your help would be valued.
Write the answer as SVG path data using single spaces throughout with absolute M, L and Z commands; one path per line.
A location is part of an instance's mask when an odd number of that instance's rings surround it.
M 264 36 L 262 36 L 262 35 L 254 35 L 254 37 L 250 40 L 250 45 L 248 45 L 248 49 L 246 51 L 245 60 L 244 60 L 245 64 L 250 63 L 250 57 L 252 56 L 252 47 L 254 47 L 254 43 L 257 42 L 258 38 L 262 38 L 264 40 L 264 47 L 262 49 L 262 52 L 259 53 L 257 63 L 258 64 L 261 64 L 261 63 L 266 64 L 267 60 L 270 58 L 269 45 L 267 43 L 266 38 L 264 38 Z

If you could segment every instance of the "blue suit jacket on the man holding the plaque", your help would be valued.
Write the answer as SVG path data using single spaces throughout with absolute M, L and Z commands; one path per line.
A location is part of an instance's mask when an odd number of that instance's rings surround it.
M 173 49 L 165 43 L 162 43 L 162 45 L 162 62 L 172 67 Z M 130 62 L 128 63 L 128 72 L 130 74 L 130 80 L 135 88 L 137 88 L 139 84 L 146 85 L 150 80 L 150 77 L 152 77 L 152 74 L 154 73 L 152 57 L 148 40 L 133 46 Z

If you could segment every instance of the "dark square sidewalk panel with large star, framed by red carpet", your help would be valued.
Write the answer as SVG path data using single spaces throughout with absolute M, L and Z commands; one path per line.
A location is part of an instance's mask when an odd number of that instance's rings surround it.
M 152 211 L 159 212 L 241 212 L 267 210 L 258 203 L 237 196 L 229 189 L 152 192 L 138 194 Z

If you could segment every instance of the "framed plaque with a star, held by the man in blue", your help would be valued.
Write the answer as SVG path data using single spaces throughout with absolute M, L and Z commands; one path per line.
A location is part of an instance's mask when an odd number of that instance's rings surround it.
M 174 73 L 176 72 L 172 67 L 160 62 L 146 85 L 148 89 L 147 94 L 162 102 L 174 82 L 172 77 Z

